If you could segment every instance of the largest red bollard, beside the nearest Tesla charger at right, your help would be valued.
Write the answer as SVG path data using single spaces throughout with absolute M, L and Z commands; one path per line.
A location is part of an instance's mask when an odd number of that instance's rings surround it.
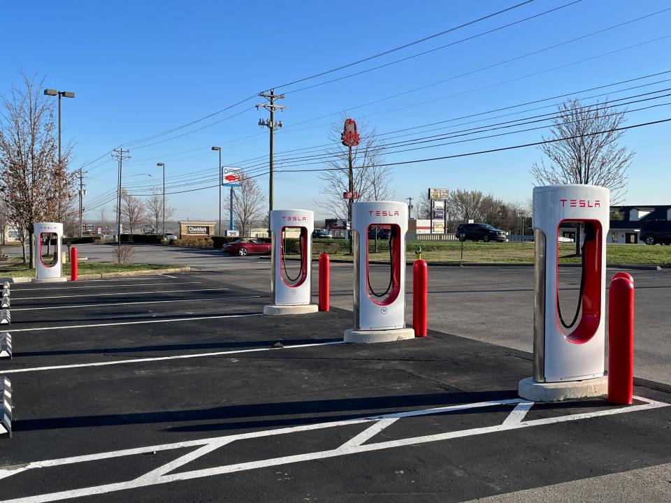
M 634 386 L 634 281 L 626 272 L 610 282 L 608 298 L 608 401 L 630 404 Z

